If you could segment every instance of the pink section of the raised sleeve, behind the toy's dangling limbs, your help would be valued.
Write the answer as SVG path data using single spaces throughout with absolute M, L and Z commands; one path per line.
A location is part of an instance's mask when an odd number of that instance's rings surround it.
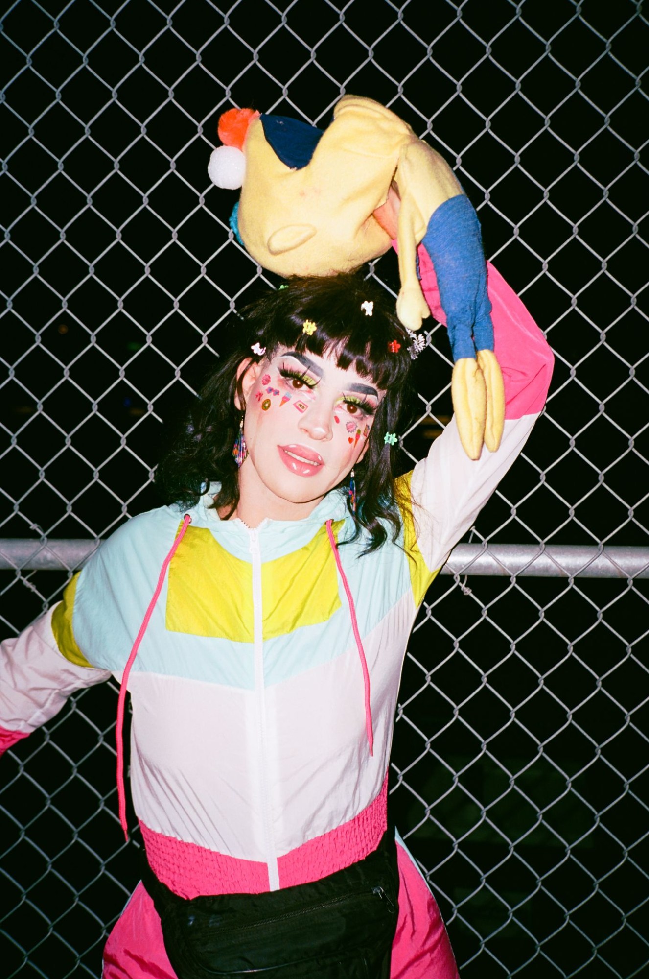
M 433 262 L 422 245 L 417 256 L 426 302 L 435 318 L 445 325 Z M 495 355 L 505 383 L 505 418 L 537 414 L 545 403 L 552 377 L 552 351 L 525 304 L 490 261 L 487 261 L 487 293 Z

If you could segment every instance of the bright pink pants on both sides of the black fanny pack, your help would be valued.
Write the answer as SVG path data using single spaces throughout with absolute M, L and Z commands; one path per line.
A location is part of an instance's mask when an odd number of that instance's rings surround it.
M 397 842 L 399 914 L 391 979 L 459 979 L 440 909 Z M 138 884 L 104 950 L 103 979 L 176 979 L 162 944 L 160 918 Z

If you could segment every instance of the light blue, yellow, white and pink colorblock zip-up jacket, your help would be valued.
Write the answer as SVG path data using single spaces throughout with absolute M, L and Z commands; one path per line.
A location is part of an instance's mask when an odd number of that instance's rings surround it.
M 507 396 L 499 449 L 472 462 L 454 423 L 401 477 L 412 515 L 397 544 L 339 550 L 362 639 L 327 535 L 351 534 L 344 496 L 309 517 L 249 530 L 220 521 L 211 492 L 171 560 L 128 680 L 131 787 L 149 861 L 184 897 L 259 892 L 361 859 L 386 828 L 387 772 L 410 629 L 453 544 L 526 442 L 552 356 L 523 303 L 489 267 Z M 435 296 L 428 296 L 435 311 Z M 438 298 L 439 306 L 439 298 Z M 2 647 L 4 745 L 53 717 L 74 689 L 121 678 L 183 513 L 130 520 L 63 601 Z

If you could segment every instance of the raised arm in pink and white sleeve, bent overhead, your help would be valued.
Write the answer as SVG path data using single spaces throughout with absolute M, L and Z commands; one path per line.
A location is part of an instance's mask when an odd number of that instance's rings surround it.
M 421 285 L 433 315 L 445 323 L 433 263 L 425 249 L 418 252 Z M 434 573 L 459 538 L 472 526 L 526 443 L 538 417 L 552 376 L 554 358 L 541 330 L 513 289 L 487 262 L 495 353 L 505 387 L 505 423 L 500 447 L 483 447 L 473 461 L 464 452 L 451 419 L 426 459 L 417 463 L 411 493 L 417 542 L 427 568 Z

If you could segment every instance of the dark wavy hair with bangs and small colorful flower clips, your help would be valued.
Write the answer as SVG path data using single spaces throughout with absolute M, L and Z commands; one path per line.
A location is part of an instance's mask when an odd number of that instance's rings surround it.
M 408 352 L 412 339 L 396 318 L 394 299 L 358 273 L 289 282 L 243 310 L 235 350 L 205 383 L 178 438 L 162 458 L 156 483 L 167 502 L 181 506 L 196 503 L 202 487 L 219 483 L 213 505 L 232 514 L 239 502 L 232 445 L 241 411 L 235 395 L 243 401 L 237 368 L 243 360 L 260 359 L 251 351 L 255 343 L 265 348 L 267 358 L 283 347 L 318 356 L 332 354 L 339 367 L 352 367 L 386 392 L 365 455 L 354 467 L 355 513 L 349 507 L 355 524 L 351 539 L 366 532 L 370 539 L 365 550 L 372 551 L 385 543 L 389 530 L 396 540 L 401 529 L 398 503 L 407 505 L 395 496 L 393 462 L 398 445 L 386 444 L 385 436 L 403 423 L 403 409 L 412 393 Z M 361 309 L 366 301 L 374 303 L 371 316 Z M 310 336 L 301 329 L 305 319 L 316 324 Z M 389 347 L 394 342 L 398 350 Z

